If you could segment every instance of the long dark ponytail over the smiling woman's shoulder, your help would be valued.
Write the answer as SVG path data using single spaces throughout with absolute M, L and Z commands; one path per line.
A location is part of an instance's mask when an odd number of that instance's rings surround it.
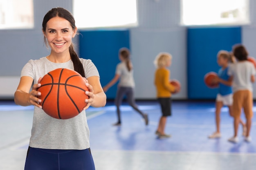
M 73 65 L 74 65 L 74 70 L 76 72 L 78 72 L 79 74 L 81 74 L 82 77 L 85 77 L 85 71 L 84 71 L 84 68 L 83 68 L 83 64 L 79 60 L 79 57 L 76 54 L 76 51 L 74 50 L 74 45 L 72 43 L 69 47 L 69 51 L 70 51 L 71 60 L 72 60 Z

